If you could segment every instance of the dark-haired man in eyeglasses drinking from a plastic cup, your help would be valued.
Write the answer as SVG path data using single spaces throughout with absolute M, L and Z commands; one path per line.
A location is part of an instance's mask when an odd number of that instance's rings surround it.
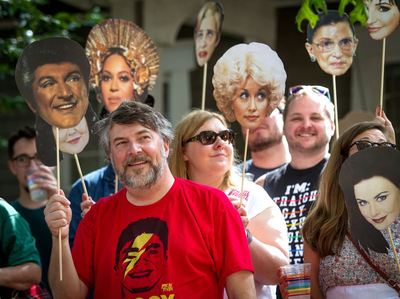
M 52 169 L 43 165 L 38 159 L 34 127 L 23 127 L 10 136 L 8 154 L 8 168 L 16 176 L 19 185 L 19 196 L 11 202 L 11 205 L 30 225 L 42 261 L 42 282 L 50 290 L 47 272 L 51 253 L 51 233 L 43 214 L 47 199 L 40 202 L 32 200 L 28 190 L 26 170 L 33 165 L 39 166 L 39 171 L 35 175 L 40 178 L 36 179 L 35 183 L 38 184 L 38 188 L 47 191 L 48 198 L 57 193 L 57 180 Z

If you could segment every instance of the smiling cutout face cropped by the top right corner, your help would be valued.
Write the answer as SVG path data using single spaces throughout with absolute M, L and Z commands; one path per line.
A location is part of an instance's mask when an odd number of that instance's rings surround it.
M 400 24 L 400 0 L 364 0 L 368 10 L 365 27 L 373 39 L 388 37 Z

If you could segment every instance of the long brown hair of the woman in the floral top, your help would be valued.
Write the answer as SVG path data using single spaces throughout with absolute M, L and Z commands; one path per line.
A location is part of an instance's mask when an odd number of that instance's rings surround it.
M 300 231 L 304 242 L 320 258 L 327 255 L 340 256 L 348 221 L 344 194 L 339 186 L 340 168 L 348 158 L 348 152 L 344 151 L 354 138 L 371 129 L 378 129 L 386 136 L 384 125 L 377 121 L 357 123 L 340 135 L 321 175 L 318 199 L 312 205 Z

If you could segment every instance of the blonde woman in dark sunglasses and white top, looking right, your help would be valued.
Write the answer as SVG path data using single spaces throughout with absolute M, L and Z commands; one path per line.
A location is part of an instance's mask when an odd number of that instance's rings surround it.
M 243 207 L 239 207 L 241 178 L 233 166 L 234 137 L 222 115 L 194 110 L 176 126 L 169 167 L 178 178 L 218 188 L 230 197 L 246 229 L 257 298 L 275 298 L 274 272 L 289 261 L 286 223 L 264 189 L 251 182 L 245 181 Z

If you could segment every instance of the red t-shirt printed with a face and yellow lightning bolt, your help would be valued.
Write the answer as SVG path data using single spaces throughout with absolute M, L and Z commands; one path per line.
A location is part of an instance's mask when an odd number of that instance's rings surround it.
M 254 272 L 224 192 L 179 178 L 148 206 L 134 206 L 126 192 L 100 199 L 76 232 L 74 265 L 96 299 L 222 298 L 227 276 Z

